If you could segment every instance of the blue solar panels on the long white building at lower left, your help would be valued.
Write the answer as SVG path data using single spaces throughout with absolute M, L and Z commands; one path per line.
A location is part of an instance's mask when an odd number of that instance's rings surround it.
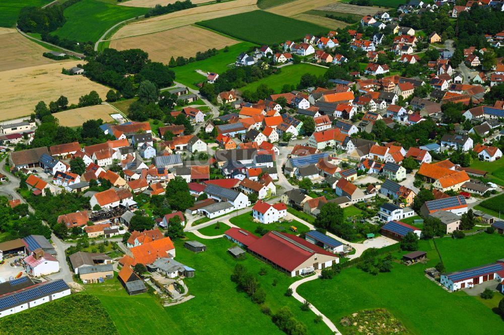
M 68 287 L 67 283 L 65 283 L 65 281 L 62 279 L 53 282 L 42 283 L 40 285 L 37 285 L 36 287 L 16 292 L 0 298 L 0 310 L 6 310 L 10 307 L 18 306 L 24 302 L 32 301 L 38 299 L 39 297 L 47 296 L 51 293 L 59 292 L 66 289 L 70 288 Z

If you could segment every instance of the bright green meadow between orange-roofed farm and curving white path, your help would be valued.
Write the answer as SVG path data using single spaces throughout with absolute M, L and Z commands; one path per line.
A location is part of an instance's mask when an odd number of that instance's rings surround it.
M 314 314 L 303 312 L 301 303 L 283 294 L 296 279 L 274 270 L 255 257 L 246 254 L 236 261 L 227 249 L 233 244 L 225 238 L 201 239 L 187 234 L 208 246 L 204 253 L 195 254 L 176 241 L 176 260 L 196 269 L 194 278 L 184 279 L 189 293 L 195 298 L 179 305 L 163 307 L 157 298 L 148 293 L 129 296 L 116 279 L 103 284 L 87 285 L 86 291 L 96 295 L 108 310 L 121 334 L 223 334 L 239 329 L 244 334 L 283 334 L 271 319 L 261 312 L 260 306 L 251 302 L 246 293 L 236 289 L 230 275 L 239 262 L 248 271 L 258 274 L 266 267 L 265 276 L 257 275 L 266 292 L 266 303 L 273 312 L 289 306 L 295 317 L 304 322 L 310 334 L 329 334 L 324 323 L 314 323 Z M 216 268 L 217 267 L 217 268 Z M 277 285 L 273 286 L 273 280 Z M 217 322 L 218 320 L 218 322 Z

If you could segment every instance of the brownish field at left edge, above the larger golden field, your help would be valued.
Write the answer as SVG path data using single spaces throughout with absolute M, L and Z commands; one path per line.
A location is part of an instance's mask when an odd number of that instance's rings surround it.
M 0 50 L 0 71 L 57 62 L 42 56 L 48 50 L 15 29 L 0 29 Z

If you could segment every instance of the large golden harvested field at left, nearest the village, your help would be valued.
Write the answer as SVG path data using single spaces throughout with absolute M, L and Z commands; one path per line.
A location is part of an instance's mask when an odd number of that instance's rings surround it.
M 68 98 L 70 104 L 96 91 L 105 99 L 108 88 L 82 75 L 66 75 L 61 68 L 77 66 L 82 61 L 56 62 L 0 72 L 0 121 L 27 116 L 33 113 L 39 101 L 47 104 L 59 96 Z

